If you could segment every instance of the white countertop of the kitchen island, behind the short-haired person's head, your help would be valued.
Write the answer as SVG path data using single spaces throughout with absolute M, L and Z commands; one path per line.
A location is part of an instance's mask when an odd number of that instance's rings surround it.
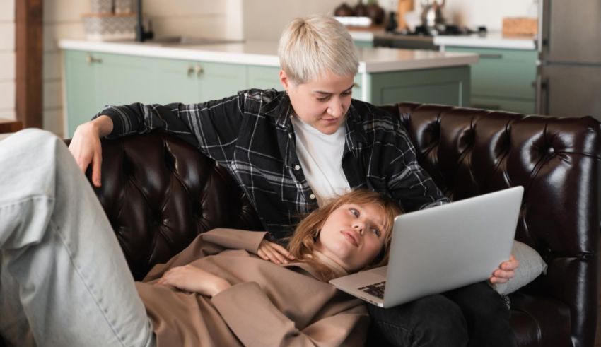
M 95 42 L 61 40 L 62 49 L 218 63 L 279 66 L 277 42 L 238 42 L 218 45 L 156 45 L 132 41 Z M 414 49 L 358 47 L 359 73 L 461 66 L 478 61 L 477 54 L 420 51 Z

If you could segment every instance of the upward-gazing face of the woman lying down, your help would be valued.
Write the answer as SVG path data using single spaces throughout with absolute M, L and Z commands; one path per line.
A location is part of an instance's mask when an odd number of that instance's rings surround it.
M 348 272 L 372 263 L 384 246 L 385 213 L 377 204 L 344 204 L 329 214 L 315 249 Z

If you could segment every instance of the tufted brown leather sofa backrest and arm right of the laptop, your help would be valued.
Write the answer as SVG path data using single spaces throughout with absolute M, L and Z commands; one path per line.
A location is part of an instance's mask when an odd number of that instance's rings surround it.
M 515 239 L 549 266 L 529 289 L 567 303 L 574 346 L 593 346 L 599 122 L 414 103 L 384 108 L 401 118 L 419 163 L 450 199 L 525 188 Z

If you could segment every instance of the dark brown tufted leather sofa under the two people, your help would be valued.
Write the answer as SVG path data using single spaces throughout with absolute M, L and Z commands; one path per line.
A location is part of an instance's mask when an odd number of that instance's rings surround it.
M 593 346 L 599 122 L 413 103 L 383 108 L 401 117 L 421 165 L 451 199 L 525 187 L 516 239 L 549 269 L 510 295 L 519 346 Z M 228 172 L 173 136 L 104 140 L 103 158 L 96 192 L 136 279 L 206 230 L 262 228 Z

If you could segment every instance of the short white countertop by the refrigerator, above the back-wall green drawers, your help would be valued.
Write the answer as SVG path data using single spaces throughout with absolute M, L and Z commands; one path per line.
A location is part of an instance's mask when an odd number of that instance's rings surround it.
M 536 49 L 535 40 L 535 37 L 506 37 L 500 32 L 496 32 L 488 33 L 486 36 L 479 36 L 478 34 L 435 36 L 434 45 L 534 50 Z

